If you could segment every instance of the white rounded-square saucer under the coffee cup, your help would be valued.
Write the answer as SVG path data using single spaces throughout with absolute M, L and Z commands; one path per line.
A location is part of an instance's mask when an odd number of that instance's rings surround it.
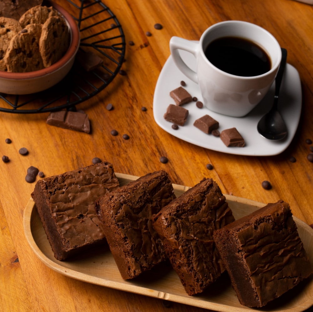
M 192 69 L 196 68 L 195 58 L 191 53 L 180 51 L 182 59 Z M 200 89 L 197 83 L 184 76 L 184 74 L 175 65 L 172 56 L 164 64 L 158 81 L 153 98 L 153 115 L 156 123 L 168 133 L 189 143 L 212 149 L 215 151 L 251 156 L 270 156 L 283 152 L 291 143 L 297 130 L 301 106 L 302 92 L 301 82 L 298 71 L 287 64 L 285 74 L 280 88 L 280 113 L 283 116 L 288 135 L 282 141 L 271 141 L 260 136 L 256 126 L 259 119 L 269 110 L 274 98 L 274 83 L 268 94 L 263 100 L 245 117 L 229 117 L 214 113 L 208 108 L 197 108 L 195 102 L 184 104 L 183 107 L 188 109 L 189 115 L 184 126 L 179 126 L 178 130 L 172 129 L 172 123 L 164 119 L 164 113 L 169 104 L 174 104 L 170 97 L 170 91 L 180 87 L 181 81 L 186 82 L 184 87 L 192 97 L 197 97 L 198 101 L 203 102 Z M 214 137 L 212 134 L 203 133 L 193 126 L 196 119 L 208 114 L 219 122 L 218 130 L 236 127 L 245 140 L 245 147 L 226 147 L 222 140 Z

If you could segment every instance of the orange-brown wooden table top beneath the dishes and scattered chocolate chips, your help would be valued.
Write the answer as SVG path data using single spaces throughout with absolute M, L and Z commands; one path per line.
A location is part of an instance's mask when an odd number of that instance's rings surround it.
M 225 194 L 263 203 L 283 199 L 296 217 L 313 224 L 313 164 L 307 160 L 312 144 L 306 143 L 313 139 L 313 7 L 292 0 L 104 3 L 125 33 L 122 69 L 127 75 L 117 75 L 107 88 L 78 105 L 88 113 L 92 133 L 49 126 L 48 113 L 0 113 L 0 152 L 10 159 L 0 162 L 1 311 L 204 311 L 180 303 L 168 308 L 160 299 L 84 283 L 46 267 L 30 249 L 23 230 L 23 210 L 35 185 L 25 181 L 30 166 L 51 176 L 87 166 L 99 157 L 124 174 L 141 176 L 164 169 L 175 184 L 193 186 L 204 176 L 212 177 Z M 288 63 L 299 71 L 300 125 L 280 155 L 238 156 L 198 147 L 168 134 L 153 118 L 154 88 L 170 55 L 170 38 L 197 40 L 208 26 L 225 20 L 248 21 L 267 29 L 288 50 Z M 163 28 L 156 30 L 155 23 Z M 146 36 L 147 31 L 152 36 Z M 106 110 L 108 103 L 114 110 Z M 119 135 L 112 136 L 112 129 Z M 124 133 L 129 140 L 122 138 Z M 6 144 L 6 138 L 12 143 Z M 28 149 L 27 156 L 18 153 L 21 147 Z M 161 156 L 168 163 L 161 163 Z M 291 156 L 295 163 L 289 161 Z M 213 169 L 208 170 L 206 164 Z M 264 180 L 270 181 L 272 189 L 262 188 Z

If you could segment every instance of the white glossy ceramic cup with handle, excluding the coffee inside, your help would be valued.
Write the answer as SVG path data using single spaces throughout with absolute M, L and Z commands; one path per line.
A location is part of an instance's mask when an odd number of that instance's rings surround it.
M 209 43 L 221 37 L 245 38 L 261 46 L 271 60 L 270 70 L 258 76 L 244 77 L 215 67 L 208 61 L 204 51 Z M 184 63 L 180 49 L 194 55 L 196 72 Z M 233 117 L 246 115 L 261 101 L 275 79 L 281 60 L 280 45 L 273 35 L 264 28 L 243 21 L 214 24 L 205 30 L 199 42 L 172 37 L 170 50 L 180 71 L 198 83 L 203 104 L 213 112 Z

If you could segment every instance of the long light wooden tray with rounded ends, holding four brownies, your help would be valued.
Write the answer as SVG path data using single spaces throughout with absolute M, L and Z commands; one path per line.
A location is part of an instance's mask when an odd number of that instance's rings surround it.
M 116 176 L 120 181 L 120 185 L 137 179 L 135 176 L 126 174 L 116 173 Z M 177 184 L 173 184 L 173 187 L 177 196 L 189 189 L 189 187 Z M 264 204 L 252 200 L 231 195 L 225 196 L 236 219 L 264 206 Z M 305 250 L 313 263 L 313 230 L 300 219 L 294 217 L 294 220 L 298 226 L 298 232 Z M 70 278 L 216 311 L 240 312 L 253 310 L 239 303 L 227 274 L 223 274 L 201 295 L 188 296 L 176 272 L 167 263 L 145 272 L 134 280 L 123 280 L 107 246 L 101 251 L 94 250 L 87 256 L 75 258 L 71 261 L 56 260 L 32 199 L 25 207 L 23 223 L 28 243 L 37 257 L 49 268 Z M 263 309 L 258 310 L 267 312 L 304 311 L 313 305 L 312 294 L 313 278 L 310 278 L 267 304 Z

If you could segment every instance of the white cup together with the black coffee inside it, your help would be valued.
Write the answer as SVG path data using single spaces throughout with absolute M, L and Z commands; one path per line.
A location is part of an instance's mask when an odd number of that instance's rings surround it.
M 170 50 L 180 71 L 198 83 L 203 104 L 232 117 L 245 116 L 262 100 L 281 61 L 281 48 L 274 36 L 243 21 L 216 23 L 199 41 L 172 37 Z M 184 63 L 179 50 L 193 54 L 196 71 Z

